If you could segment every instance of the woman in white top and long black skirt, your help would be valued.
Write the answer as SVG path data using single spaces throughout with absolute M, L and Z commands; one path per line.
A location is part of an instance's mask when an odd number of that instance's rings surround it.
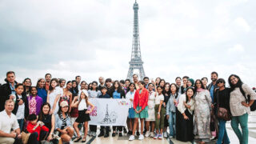
M 176 112 L 176 139 L 182 142 L 194 140 L 194 88 L 188 87 L 178 99 Z M 192 142 L 193 143 L 193 142 Z

